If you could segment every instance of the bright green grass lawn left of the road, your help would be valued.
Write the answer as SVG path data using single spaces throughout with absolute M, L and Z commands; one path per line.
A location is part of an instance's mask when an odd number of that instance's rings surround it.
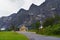
M 15 32 L 0 32 L 0 40 L 28 40 L 28 38 Z

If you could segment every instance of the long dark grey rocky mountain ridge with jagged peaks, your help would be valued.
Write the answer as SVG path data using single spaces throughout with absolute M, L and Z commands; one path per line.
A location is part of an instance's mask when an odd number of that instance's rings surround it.
M 11 24 L 19 26 L 21 24 L 30 25 L 31 23 L 60 15 L 60 0 L 46 0 L 40 6 L 32 4 L 29 10 L 20 9 L 7 17 L 0 18 L 0 28 L 8 28 Z M 40 16 L 40 17 L 39 17 Z

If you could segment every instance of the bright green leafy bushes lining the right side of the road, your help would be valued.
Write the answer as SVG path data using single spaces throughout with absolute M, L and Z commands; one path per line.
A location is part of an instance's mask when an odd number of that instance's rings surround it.
M 60 35 L 60 24 L 54 24 L 53 26 L 40 29 L 39 33 L 45 35 Z

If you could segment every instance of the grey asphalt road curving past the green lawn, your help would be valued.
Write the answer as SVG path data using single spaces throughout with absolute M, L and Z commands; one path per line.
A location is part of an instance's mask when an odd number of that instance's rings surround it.
M 29 38 L 29 40 L 60 40 L 60 38 L 51 36 L 42 36 L 32 32 L 18 32 L 18 33 L 26 35 Z

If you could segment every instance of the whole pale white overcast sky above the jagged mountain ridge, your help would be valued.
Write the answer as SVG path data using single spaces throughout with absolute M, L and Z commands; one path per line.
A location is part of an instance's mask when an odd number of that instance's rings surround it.
M 28 10 L 32 3 L 40 5 L 45 0 L 0 0 L 0 17 L 16 13 L 19 9 Z

